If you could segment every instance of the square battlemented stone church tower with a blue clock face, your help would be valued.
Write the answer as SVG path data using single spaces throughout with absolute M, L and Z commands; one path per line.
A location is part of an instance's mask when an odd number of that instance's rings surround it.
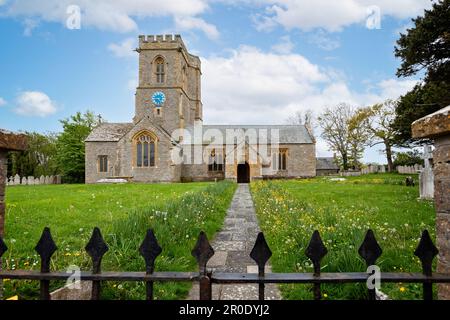
M 134 123 L 148 117 L 169 134 L 202 121 L 201 63 L 179 35 L 139 36 Z

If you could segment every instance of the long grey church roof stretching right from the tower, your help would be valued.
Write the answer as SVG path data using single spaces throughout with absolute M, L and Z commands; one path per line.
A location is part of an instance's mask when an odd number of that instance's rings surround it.
M 304 125 L 204 125 L 203 131 L 217 129 L 225 137 L 226 130 L 267 130 L 267 139 L 270 141 L 271 130 L 278 130 L 280 144 L 315 143 L 314 137 Z

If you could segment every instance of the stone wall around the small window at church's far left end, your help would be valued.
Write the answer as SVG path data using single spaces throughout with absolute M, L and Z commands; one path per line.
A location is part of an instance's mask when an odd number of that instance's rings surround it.
M 108 156 L 108 172 L 99 172 L 98 156 Z M 86 142 L 86 183 L 115 175 L 117 142 Z

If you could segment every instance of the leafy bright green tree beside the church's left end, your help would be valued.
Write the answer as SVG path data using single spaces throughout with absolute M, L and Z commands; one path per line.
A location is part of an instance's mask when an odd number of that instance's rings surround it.
M 84 140 L 102 121 L 101 116 L 96 116 L 90 111 L 84 114 L 77 112 L 68 119 L 60 120 L 63 132 L 57 139 L 57 162 L 65 181 L 72 183 L 84 182 Z

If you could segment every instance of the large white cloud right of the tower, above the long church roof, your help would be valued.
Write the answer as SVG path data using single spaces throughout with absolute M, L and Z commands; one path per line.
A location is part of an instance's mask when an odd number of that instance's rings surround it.
M 299 54 L 242 46 L 225 57 L 202 58 L 206 123 L 279 124 L 296 111 L 320 113 L 347 102 L 367 106 L 398 98 L 416 83 L 386 79 L 350 89 L 345 75 L 322 69 Z

